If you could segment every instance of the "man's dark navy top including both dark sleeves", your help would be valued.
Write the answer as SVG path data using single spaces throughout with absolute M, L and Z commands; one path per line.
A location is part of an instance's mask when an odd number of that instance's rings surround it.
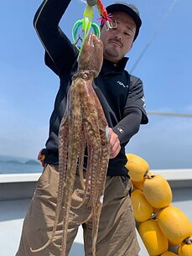
M 34 28 L 45 48 L 45 64 L 60 77 L 60 89 L 49 121 L 49 138 L 44 162 L 58 165 L 58 133 L 65 112 L 67 88 L 77 70 L 78 52 L 59 27 L 70 0 L 44 0 L 34 16 Z M 125 145 L 138 132 L 140 123 L 148 123 L 144 108 L 143 83 L 124 70 L 127 58 L 118 64 L 103 61 L 100 75 L 94 80 L 94 89 L 106 115 L 109 127 L 119 136 L 122 149 L 110 159 L 107 175 L 125 175 L 127 163 Z

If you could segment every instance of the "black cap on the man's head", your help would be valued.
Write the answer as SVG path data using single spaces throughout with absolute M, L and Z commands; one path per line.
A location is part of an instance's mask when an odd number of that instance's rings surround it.
M 115 12 L 124 12 L 124 13 L 127 13 L 129 16 L 131 16 L 136 24 L 136 33 L 135 33 L 134 40 L 138 37 L 138 32 L 142 25 L 142 20 L 139 16 L 138 8 L 136 8 L 133 4 L 117 2 L 107 6 L 106 11 L 108 14 L 115 13 Z

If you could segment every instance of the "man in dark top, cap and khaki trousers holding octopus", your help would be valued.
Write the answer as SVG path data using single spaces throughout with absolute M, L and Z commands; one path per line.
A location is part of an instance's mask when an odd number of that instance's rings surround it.
M 60 77 L 60 89 L 50 118 L 49 138 L 39 159 L 45 165 L 39 178 L 29 212 L 23 222 L 23 232 L 17 256 L 60 256 L 62 237 L 62 212 L 54 242 L 39 253 L 31 253 L 30 247 L 40 248 L 49 240 L 52 232 L 58 189 L 58 131 L 65 112 L 66 91 L 77 69 L 78 52 L 59 27 L 60 18 L 70 0 L 44 0 L 34 17 L 34 27 L 45 48 L 45 63 Z M 96 243 L 96 256 L 136 256 L 139 251 L 135 222 L 129 192 L 131 189 L 127 170 L 125 145 L 141 123 L 148 123 L 144 109 L 143 83 L 124 70 L 124 55 L 138 37 L 142 21 L 138 9 L 127 3 L 115 3 L 106 8 L 112 13 L 113 29 L 101 28 L 104 45 L 104 61 L 100 75 L 94 80 L 94 89 L 101 101 L 110 127 L 110 161 L 106 177 L 104 203 Z M 86 156 L 85 156 L 86 159 Z M 83 197 L 78 174 L 72 205 Z M 67 254 L 82 224 L 86 256 L 91 256 L 90 201 L 80 209 L 72 209 L 67 236 Z

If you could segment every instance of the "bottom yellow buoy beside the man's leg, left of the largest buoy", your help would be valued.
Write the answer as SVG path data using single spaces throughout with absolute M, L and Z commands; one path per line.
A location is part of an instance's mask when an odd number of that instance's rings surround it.
M 168 239 L 158 227 L 157 221 L 141 222 L 138 226 L 138 232 L 150 256 L 157 256 L 168 250 Z

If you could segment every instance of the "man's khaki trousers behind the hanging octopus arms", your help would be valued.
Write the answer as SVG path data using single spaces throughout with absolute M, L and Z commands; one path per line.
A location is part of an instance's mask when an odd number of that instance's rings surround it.
M 16 256 L 60 256 L 62 238 L 62 212 L 54 242 L 38 253 L 31 248 L 40 248 L 49 240 L 52 232 L 57 198 L 59 173 L 54 166 L 47 165 L 40 176 L 29 211 L 23 222 L 22 237 Z M 96 243 L 96 256 L 136 256 L 139 252 L 135 222 L 128 191 L 129 180 L 121 176 L 106 177 L 106 190 L 101 210 L 100 226 Z M 78 205 L 83 197 L 79 176 L 75 179 L 72 205 Z M 71 208 L 67 253 L 75 239 L 80 223 L 84 230 L 85 255 L 91 256 L 91 220 L 85 222 L 91 211 L 86 199 L 80 209 Z M 78 256 L 78 255 L 73 255 Z

